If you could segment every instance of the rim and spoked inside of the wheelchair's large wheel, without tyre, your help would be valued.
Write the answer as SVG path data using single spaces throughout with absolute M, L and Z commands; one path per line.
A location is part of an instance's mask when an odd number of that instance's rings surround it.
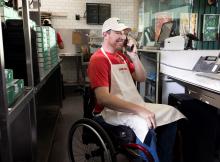
M 90 125 L 78 124 L 72 134 L 71 153 L 74 162 L 111 162 L 111 156 L 99 133 Z

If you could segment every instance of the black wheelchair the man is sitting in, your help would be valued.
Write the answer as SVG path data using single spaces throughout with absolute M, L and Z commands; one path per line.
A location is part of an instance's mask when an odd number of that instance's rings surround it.
M 68 136 L 71 162 L 154 162 L 150 151 L 134 143 L 136 136 L 132 129 L 126 128 L 124 131 L 126 126 L 112 126 L 93 116 L 95 95 L 90 87 L 84 88 L 83 102 L 84 118 L 72 125 Z M 116 137 L 120 140 L 115 138 L 115 132 L 120 134 Z M 145 160 L 140 152 L 146 157 Z

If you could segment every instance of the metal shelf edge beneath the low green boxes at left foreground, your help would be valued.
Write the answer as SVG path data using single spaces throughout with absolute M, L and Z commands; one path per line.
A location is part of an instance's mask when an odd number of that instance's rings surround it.
M 30 100 L 34 97 L 34 90 L 33 88 L 27 87 L 26 90 L 24 90 L 24 93 L 16 100 L 15 104 L 8 108 L 9 114 L 9 123 L 12 123 L 14 119 L 22 112 L 22 110 L 25 108 L 25 105 L 30 102 Z

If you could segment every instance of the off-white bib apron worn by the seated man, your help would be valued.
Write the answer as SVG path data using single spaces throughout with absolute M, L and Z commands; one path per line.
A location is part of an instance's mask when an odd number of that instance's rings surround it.
M 127 63 L 112 64 L 103 48 L 101 48 L 101 51 L 109 60 L 111 65 L 111 95 L 115 95 L 123 100 L 144 106 L 151 112 L 155 113 L 157 126 L 165 125 L 184 118 L 184 116 L 172 106 L 145 103 L 137 91 Z M 123 57 L 121 58 L 123 59 Z M 104 120 L 109 124 L 129 126 L 136 136 L 142 142 L 144 141 L 149 130 L 145 119 L 133 113 L 119 112 L 108 107 L 105 107 L 101 114 Z

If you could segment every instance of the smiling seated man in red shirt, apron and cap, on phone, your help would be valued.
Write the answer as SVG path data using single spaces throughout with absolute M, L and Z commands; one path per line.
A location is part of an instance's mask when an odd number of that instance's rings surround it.
M 136 42 L 127 38 L 131 29 L 119 18 L 109 18 L 102 27 L 102 47 L 91 57 L 88 77 L 97 100 L 93 113 L 107 124 L 131 128 L 136 142 L 146 142 L 149 130 L 160 130 L 157 152 L 160 162 L 172 161 L 176 122 L 184 116 L 175 108 L 163 104 L 145 103 L 134 80 L 145 81 L 145 69 L 137 55 Z M 126 43 L 125 43 L 126 42 Z M 122 52 L 123 49 L 125 52 Z M 165 125 L 165 126 L 162 126 Z M 155 161 L 159 161 L 154 156 Z

